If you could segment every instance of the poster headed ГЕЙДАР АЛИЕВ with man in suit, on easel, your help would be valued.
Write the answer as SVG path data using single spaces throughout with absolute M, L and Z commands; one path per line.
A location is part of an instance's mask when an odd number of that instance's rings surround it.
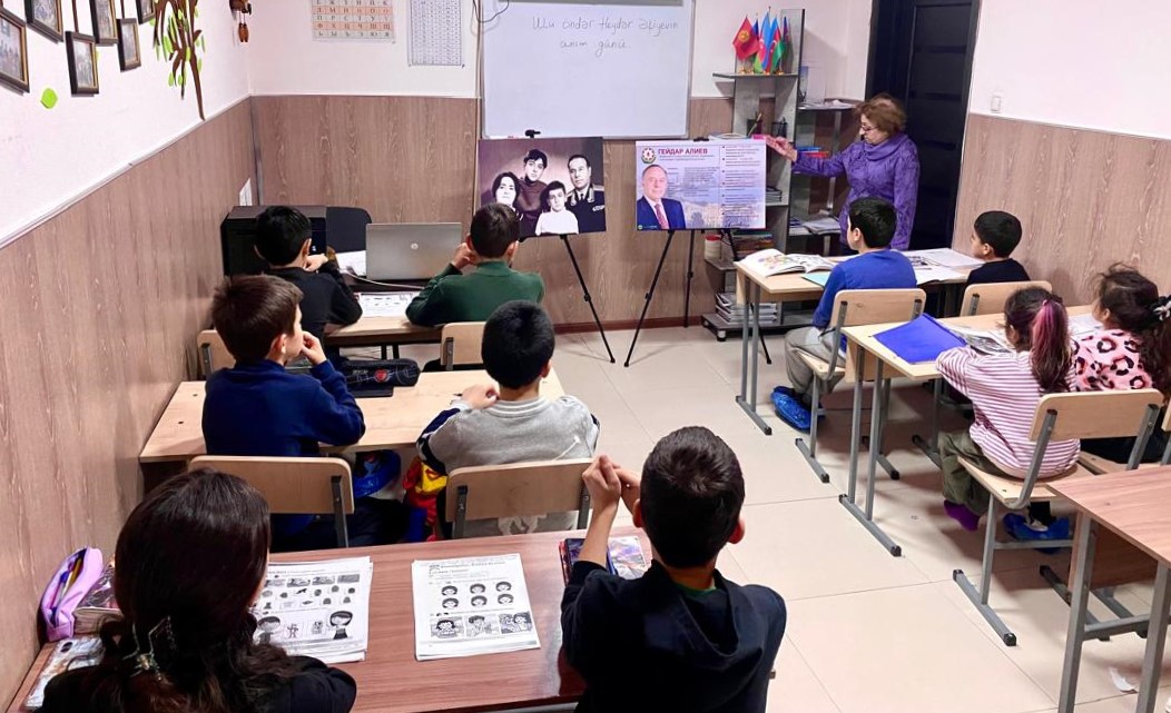
M 765 228 L 765 142 L 638 142 L 639 231 Z

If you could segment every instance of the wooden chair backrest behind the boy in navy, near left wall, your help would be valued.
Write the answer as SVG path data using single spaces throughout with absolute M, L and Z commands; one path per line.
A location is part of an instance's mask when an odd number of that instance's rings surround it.
M 333 515 L 337 547 L 349 547 L 345 516 L 354 514 L 354 481 L 341 458 L 200 455 L 191 468 L 215 468 L 248 481 L 274 515 Z

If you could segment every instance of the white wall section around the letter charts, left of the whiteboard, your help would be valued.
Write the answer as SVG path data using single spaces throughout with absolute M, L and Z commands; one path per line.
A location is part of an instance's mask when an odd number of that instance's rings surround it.
M 406 1 L 395 4 L 395 42 L 314 40 L 309 0 L 253 2 L 248 41 L 252 94 L 474 97 L 477 21 L 472 0 L 461 4 L 464 66 L 411 67 Z

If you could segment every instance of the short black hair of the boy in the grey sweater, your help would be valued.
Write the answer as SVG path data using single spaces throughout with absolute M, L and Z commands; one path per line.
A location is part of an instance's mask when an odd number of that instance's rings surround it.
M 501 386 L 520 389 L 541 378 L 555 343 L 553 321 L 541 306 L 514 300 L 498 307 L 484 323 L 480 358 Z

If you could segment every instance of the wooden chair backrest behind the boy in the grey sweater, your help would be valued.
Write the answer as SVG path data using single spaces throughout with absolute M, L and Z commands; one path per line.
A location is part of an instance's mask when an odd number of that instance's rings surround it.
M 589 493 L 582 473 L 590 460 L 545 460 L 459 468 L 447 478 L 447 521 L 464 536 L 468 520 L 532 517 L 577 510 L 577 528 L 589 523 Z

